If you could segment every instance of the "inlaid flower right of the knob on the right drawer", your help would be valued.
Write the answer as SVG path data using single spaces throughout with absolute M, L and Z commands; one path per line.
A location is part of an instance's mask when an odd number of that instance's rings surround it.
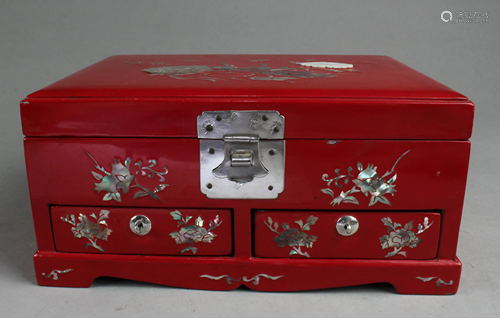
M 434 223 L 431 222 L 429 224 L 429 218 L 424 218 L 424 224 L 418 225 L 418 232 L 415 234 L 415 232 L 412 231 L 413 220 L 406 223 L 404 227 L 399 223 L 393 223 L 390 217 L 383 218 L 381 221 L 387 226 L 387 233 L 389 233 L 389 235 L 380 237 L 380 245 L 382 245 L 383 250 L 386 248 L 394 248 L 394 251 L 388 253 L 385 257 L 391 257 L 396 254 L 406 257 L 406 251 L 401 250 L 407 246 L 410 248 L 417 247 L 417 245 L 422 242 L 422 239 L 417 237 L 417 235 L 427 230 Z

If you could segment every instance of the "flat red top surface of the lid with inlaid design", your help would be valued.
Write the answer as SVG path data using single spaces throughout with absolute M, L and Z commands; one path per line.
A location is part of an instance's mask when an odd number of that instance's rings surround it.
M 29 97 L 467 99 L 390 57 L 364 55 L 111 56 Z

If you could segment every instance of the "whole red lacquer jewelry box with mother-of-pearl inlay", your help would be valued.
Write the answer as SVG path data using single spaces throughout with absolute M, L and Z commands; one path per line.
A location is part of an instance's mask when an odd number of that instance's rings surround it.
M 385 56 L 113 56 L 21 102 L 38 283 L 454 294 L 474 105 Z

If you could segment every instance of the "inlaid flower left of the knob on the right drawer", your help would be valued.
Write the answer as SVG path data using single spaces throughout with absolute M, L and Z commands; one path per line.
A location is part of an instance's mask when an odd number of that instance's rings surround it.
M 287 223 L 282 223 L 281 228 L 284 230 L 284 232 L 278 231 L 278 222 L 273 223 L 273 219 L 271 217 L 268 217 L 267 222 L 264 221 L 264 224 L 272 232 L 278 234 L 278 236 L 273 239 L 278 247 L 290 246 L 292 249 L 290 250 L 289 255 L 298 254 L 310 258 L 311 256 L 309 256 L 307 252 L 303 252 L 301 250 L 301 247 L 305 246 L 306 248 L 312 248 L 313 243 L 316 242 L 318 237 L 315 235 L 307 234 L 304 231 L 310 231 L 311 225 L 316 224 L 317 221 L 318 218 L 312 215 L 307 218 L 305 224 L 302 220 L 295 221 L 295 223 L 299 225 L 300 229 L 290 228 L 290 225 L 288 225 Z

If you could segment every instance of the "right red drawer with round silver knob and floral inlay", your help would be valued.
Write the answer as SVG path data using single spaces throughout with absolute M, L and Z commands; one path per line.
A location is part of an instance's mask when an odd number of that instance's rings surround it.
M 256 211 L 254 255 L 277 258 L 433 259 L 441 214 L 437 212 Z M 343 216 L 358 227 L 337 230 Z M 340 225 L 346 232 L 346 223 Z

